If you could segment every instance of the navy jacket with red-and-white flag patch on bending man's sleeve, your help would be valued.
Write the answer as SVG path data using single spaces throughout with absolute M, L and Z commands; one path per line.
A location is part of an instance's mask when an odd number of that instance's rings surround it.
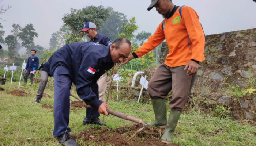
M 92 42 L 75 42 L 66 44 L 57 50 L 48 60 L 50 74 L 58 65 L 65 66 L 71 81 L 76 85 L 78 96 L 94 108 L 101 101 L 93 92 L 98 88 L 97 80 L 114 66 L 110 57 L 110 45 L 104 46 Z M 96 90 L 98 91 L 98 89 Z

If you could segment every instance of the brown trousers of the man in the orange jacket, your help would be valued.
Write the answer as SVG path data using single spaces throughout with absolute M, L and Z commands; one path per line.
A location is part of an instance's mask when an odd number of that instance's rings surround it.
M 196 74 L 188 76 L 187 70 L 184 68 L 185 65 L 172 68 L 164 63 L 161 64 L 148 83 L 151 99 L 165 98 L 172 90 L 169 106 L 171 109 L 181 112 L 196 78 Z

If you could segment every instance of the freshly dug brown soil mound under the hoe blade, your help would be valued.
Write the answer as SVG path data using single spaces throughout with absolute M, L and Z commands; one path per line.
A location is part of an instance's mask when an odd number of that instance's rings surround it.
M 81 132 L 78 136 L 73 136 L 75 139 L 83 139 L 84 141 L 93 142 L 97 146 L 106 146 L 106 145 L 115 145 L 115 146 L 164 146 L 165 144 L 161 143 L 161 136 L 163 134 L 163 129 L 151 129 L 145 128 L 140 132 L 135 138 L 133 138 L 128 143 L 124 143 L 128 138 L 134 134 L 141 126 L 135 124 L 131 127 L 122 127 L 115 130 L 101 130 L 90 129 Z M 178 146 L 172 144 L 170 146 Z

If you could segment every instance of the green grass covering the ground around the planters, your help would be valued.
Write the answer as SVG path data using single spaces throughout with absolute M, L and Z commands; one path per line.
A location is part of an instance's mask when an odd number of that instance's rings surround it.
M 1 85 L 5 91 L 0 91 L 0 146 L 59 146 L 53 132 L 52 109 L 42 108 L 42 104 L 53 105 L 53 98 L 43 98 L 39 104 L 33 100 L 37 92 L 37 85 L 26 85 L 20 88 L 29 93 L 28 97 L 18 97 L 7 94 L 7 91 L 18 88 L 18 82 L 7 82 Z M 49 84 L 45 93 L 53 97 L 53 87 Z M 75 88 L 72 87 L 72 93 Z M 109 101 L 112 110 L 142 118 L 144 122 L 154 120 L 154 112 L 150 104 L 137 104 L 136 101 Z M 76 99 L 71 98 L 72 101 Z M 74 112 L 75 111 L 75 112 Z M 169 112 L 169 111 L 168 111 Z M 85 110 L 71 109 L 69 127 L 72 135 L 99 126 L 83 126 L 82 120 Z M 102 119 L 103 116 L 100 117 Z M 131 125 L 132 122 L 106 116 L 105 121 L 109 129 Z M 95 132 L 98 132 L 95 130 Z M 111 136 L 111 135 L 109 135 Z M 93 142 L 76 139 L 78 145 L 95 146 Z M 173 137 L 173 143 L 181 146 L 255 146 L 255 125 L 239 123 L 229 118 L 217 118 L 212 115 L 201 114 L 191 110 L 182 114 Z

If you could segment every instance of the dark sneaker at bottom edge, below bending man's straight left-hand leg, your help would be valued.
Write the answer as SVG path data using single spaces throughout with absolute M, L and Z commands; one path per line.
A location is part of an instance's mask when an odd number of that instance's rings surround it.
M 69 132 L 65 132 L 64 134 L 57 137 L 58 142 L 63 146 L 77 146 L 75 139 L 71 137 Z

